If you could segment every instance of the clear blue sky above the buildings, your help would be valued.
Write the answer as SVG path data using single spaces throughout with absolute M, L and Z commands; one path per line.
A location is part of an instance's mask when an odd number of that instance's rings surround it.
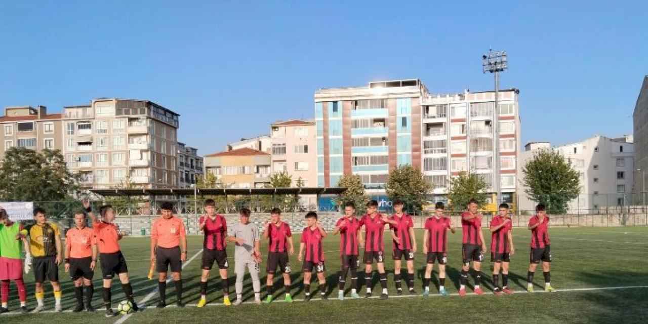
M 3 1 L 0 106 L 145 98 L 178 111 L 179 140 L 207 154 L 312 118 L 320 87 L 492 89 L 492 47 L 509 52 L 501 84 L 520 89 L 523 142 L 631 133 L 648 2 L 526 2 Z

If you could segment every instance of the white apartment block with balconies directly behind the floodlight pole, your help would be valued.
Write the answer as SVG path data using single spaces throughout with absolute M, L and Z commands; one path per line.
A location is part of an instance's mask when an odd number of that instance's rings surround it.
M 447 192 L 449 177 L 470 172 L 480 175 L 489 192 L 496 192 L 499 184 L 503 202 L 515 201 L 520 143 L 518 96 L 517 89 L 500 90 L 497 109 L 494 91 L 426 93 L 421 97 L 421 170 L 435 194 Z M 500 159 L 500 179 L 496 179 L 495 159 Z

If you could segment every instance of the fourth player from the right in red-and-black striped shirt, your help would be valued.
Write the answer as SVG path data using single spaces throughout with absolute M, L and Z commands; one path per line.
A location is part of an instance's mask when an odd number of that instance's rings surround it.
M 434 262 L 439 262 L 439 294 L 447 296 L 445 290 L 445 266 L 448 263 L 448 230 L 454 234 L 454 227 L 450 217 L 443 213 L 445 206 L 437 202 L 434 208 L 434 216 L 425 220 L 423 234 L 423 253 L 427 257 L 427 265 L 423 275 L 423 295 L 430 295 L 430 279 L 432 279 L 432 268 Z

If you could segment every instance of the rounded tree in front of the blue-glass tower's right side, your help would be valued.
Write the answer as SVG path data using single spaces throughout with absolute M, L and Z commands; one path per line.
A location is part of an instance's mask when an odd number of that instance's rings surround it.
M 414 211 L 421 210 L 430 190 L 432 185 L 425 181 L 421 170 L 411 165 L 401 165 L 391 170 L 385 183 L 385 191 L 392 201 L 400 199 L 413 207 Z

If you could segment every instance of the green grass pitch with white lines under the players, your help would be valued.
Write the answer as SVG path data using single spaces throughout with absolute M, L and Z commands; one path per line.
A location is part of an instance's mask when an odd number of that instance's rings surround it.
M 193 259 L 183 270 L 184 301 L 186 308 L 167 307 L 163 310 L 155 308 L 157 294 L 150 299 L 143 312 L 130 316 L 124 323 L 647 323 L 648 322 L 648 228 L 647 227 L 577 227 L 551 228 L 551 265 L 552 286 L 559 291 L 554 293 L 542 292 L 544 279 L 540 267 L 535 275 L 536 292 L 528 294 L 526 288 L 526 272 L 529 253 L 529 231 L 514 229 L 516 255 L 511 260 L 510 283 L 515 290 L 514 295 L 495 296 L 492 294 L 490 251 L 485 256 L 483 273 L 485 274 L 486 294 L 482 296 L 467 295 L 458 297 L 458 275 L 461 263 L 461 230 L 455 235 L 449 235 L 448 247 L 448 279 L 446 288 L 449 297 L 437 295 L 437 288 L 432 286 L 428 298 L 415 296 L 396 297 L 393 283 L 393 261 L 391 260 L 391 238 L 386 235 L 386 268 L 389 273 L 388 285 L 390 297 L 387 301 L 379 299 L 349 299 L 349 284 L 347 278 L 347 299 L 337 300 L 336 288 L 340 259 L 338 254 L 339 236 L 329 235 L 325 239 L 327 257 L 327 279 L 330 289 L 328 301 L 319 300 L 319 294 L 314 294 L 312 301 L 305 303 L 301 285 L 301 263 L 297 255 L 291 257 L 294 269 L 293 296 L 295 302 L 283 302 L 283 283 L 275 279 L 277 302 L 271 305 L 254 305 L 246 303 L 238 307 L 222 305 L 222 289 L 220 278 L 209 282 L 208 302 L 205 308 L 196 308 L 200 298 L 200 255 Z M 487 243 L 490 235 L 484 232 Z M 294 236 L 295 249 L 299 247 L 299 235 Z M 421 293 L 422 269 L 422 231 L 417 231 L 419 253 L 417 253 L 416 290 Z M 148 238 L 124 238 L 121 241 L 122 251 L 128 261 L 130 277 L 135 290 L 136 300 L 141 301 L 152 292 L 156 281 L 148 281 L 146 274 L 150 264 Z M 188 258 L 200 251 L 202 237 L 189 237 Z M 233 245 L 228 246 L 231 270 L 229 270 L 230 298 L 235 299 L 233 273 Z M 262 252 L 266 256 L 267 243 L 262 241 Z M 362 251 L 361 251 L 362 253 Z M 265 264 L 261 264 L 265 268 Z M 218 277 L 213 271 L 213 277 Z M 435 270 L 435 277 L 437 272 Z M 216 274 L 214 276 L 214 274 Z M 262 290 L 265 286 L 265 274 L 261 273 Z M 100 270 L 95 273 L 95 296 L 93 305 L 98 309 L 94 314 L 69 312 L 75 305 L 73 285 L 61 268 L 60 277 L 63 287 L 64 312 L 56 314 L 45 312 L 41 314 L 5 314 L 0 316 L 1 323 L 115 323 L 121 316 L 104 318 L 102 311 Z M 362 278 L 362 277 L 360 277 Z M 155 280 L 155 279 L 154 279 Z M 33 275 L 25 276 L 28 293 L 28 307 L 34 308 Z M 364 284 L 364 280 L 360 279 Z M 374 296 L 380 292 L 378 276 L 374 275 Z M 437 281 L 433 279 L 433 284 Z M 468 292 L 472 292 L 472 276 Z M 316 290 L 316 284 L 312 285 Z M 364 292 L 364 287 L 359 291 Z M 46 286 L 45 306 L 53 309 L 54 300 L 51 286 Z M 261 297 L 264 297 L 262 291 Z M 408 295 L 407 292 L 404 295 Z M 119 283 L 113 283 L 113 309 L 124 299 Z M 244 299 L 253 300 L 253 291 L 249 275 L 244 283 Z M 174 305 L 175 293 L 172 284 L 167 288 L 167 303 Z M 17 308 L 16 288 L 12 283 L 10 310 Z

